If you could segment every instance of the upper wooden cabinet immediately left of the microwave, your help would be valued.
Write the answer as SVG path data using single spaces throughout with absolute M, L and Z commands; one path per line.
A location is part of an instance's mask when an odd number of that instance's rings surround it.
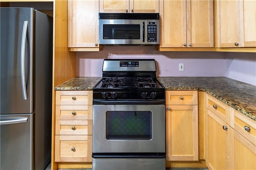
M 99 51 L 99 1 L 68 0 L 69 51 Z

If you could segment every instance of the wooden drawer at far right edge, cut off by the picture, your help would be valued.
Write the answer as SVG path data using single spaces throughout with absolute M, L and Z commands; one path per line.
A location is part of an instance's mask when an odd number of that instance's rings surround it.
M 230 108 L 230 126 L 256 145 L 256 121 Z

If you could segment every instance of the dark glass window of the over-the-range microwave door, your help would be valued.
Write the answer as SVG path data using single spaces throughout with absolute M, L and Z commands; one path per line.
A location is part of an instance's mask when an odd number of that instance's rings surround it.
M 140 39 L 140 24 L 104 24 L 103 39 Z

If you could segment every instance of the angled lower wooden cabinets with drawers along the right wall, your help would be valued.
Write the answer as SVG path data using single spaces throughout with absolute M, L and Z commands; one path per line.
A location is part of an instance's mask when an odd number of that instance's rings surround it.
M 256 123 L 206 94 L 205 158 L 210 170 L 256 169 Z

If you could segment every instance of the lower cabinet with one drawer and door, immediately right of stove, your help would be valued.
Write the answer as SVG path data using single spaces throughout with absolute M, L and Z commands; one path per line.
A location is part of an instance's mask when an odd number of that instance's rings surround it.
M 197 99 L 197 91 L 166 91 L 166 160 L 198 160 Z

